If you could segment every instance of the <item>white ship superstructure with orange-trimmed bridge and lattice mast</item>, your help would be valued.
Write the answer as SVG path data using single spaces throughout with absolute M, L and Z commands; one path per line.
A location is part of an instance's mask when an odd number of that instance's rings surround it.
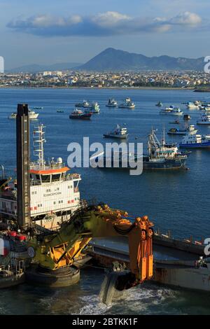
M 34 155 L 38 160 L 30 162 L 30 216 L 36 224 L 53 229 L 68 220 L 80 206 L 80 175 L 69 173 L 62 158 L 45 161 L 44 143 L 45 127 L 37 125 L 34 127 Z M 17 218 L 15 181 L 4 183 L 0 190 L 0 214 L 8 219 Z

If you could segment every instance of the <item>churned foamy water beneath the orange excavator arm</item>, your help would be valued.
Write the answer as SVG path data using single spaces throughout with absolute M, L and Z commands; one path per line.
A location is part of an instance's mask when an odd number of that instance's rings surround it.
M 106 289 L 106 282 L 102 289 Z M 140 285 L 123 292 L 111 288 L 107 304 L 102 302 L 104 290 L 99 295 L 81 297 L 85 305 L 77 314 L 181 314 L 173 305 L 177 291 L 154 285 Z

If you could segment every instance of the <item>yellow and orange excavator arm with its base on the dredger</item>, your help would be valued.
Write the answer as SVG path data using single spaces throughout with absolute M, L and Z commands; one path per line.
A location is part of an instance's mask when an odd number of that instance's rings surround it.
M 79 279 L 73 278 L 73 262 L 93 237 L 119 237 L 127 235 L 130 251 L 130 272 L 134 286 L 153 276 L 153 223 L 147 216 L 137 217 L 134 223 L 127 213 L 109 208 L 106 204 L 85 207 L 76 211 L 70 221 L 63 223 L 57 232 L 36 235 L 29 241 L 29 255 L 38 263 L 30 279 L 50 285 L 69 285 Z M 68 271 L 66 272 L 66 269 Z M 76 272 L 74 273 L 76 274 Z M 71 276 L 71 283 L 64 283 L 64 276 Z M 62 276 L 62 283 L 59 279 Z M 41 278 L 41 280 L 39 280 Z M 44 281 L 43 281 L 44 278 Z M 53 278 L 53 279 L 52 279 Z M 67 280 L 68 281 L 68 280 Z

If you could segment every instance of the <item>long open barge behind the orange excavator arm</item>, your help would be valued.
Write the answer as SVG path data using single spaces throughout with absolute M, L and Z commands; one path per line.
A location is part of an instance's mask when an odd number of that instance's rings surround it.
M 100 266 L 119 262 L 129 267 L 126 237 L 93 239 L 88 254 Z M 173 239 L 158 232 L 153 237 L 153 281 L 167 286 L 210 291 L 210 258 L 204 258 L 204 244 L 192 239 Z

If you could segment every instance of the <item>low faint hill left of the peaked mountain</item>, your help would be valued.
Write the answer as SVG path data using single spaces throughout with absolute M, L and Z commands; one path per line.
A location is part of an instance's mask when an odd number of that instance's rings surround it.
M 29 64 L 23 65 L 20 67 L 15 67 L 14 69 L 6 70 L 11 73 L 36 73 L 36 72 L 43 72 L 43 71 L 63 71 L 63 70 L 70 70 L 74 69 L 75 67 L 80 66 L 81 63 L 57 63 L 51 65 L 38 65 L 38 64 Z

